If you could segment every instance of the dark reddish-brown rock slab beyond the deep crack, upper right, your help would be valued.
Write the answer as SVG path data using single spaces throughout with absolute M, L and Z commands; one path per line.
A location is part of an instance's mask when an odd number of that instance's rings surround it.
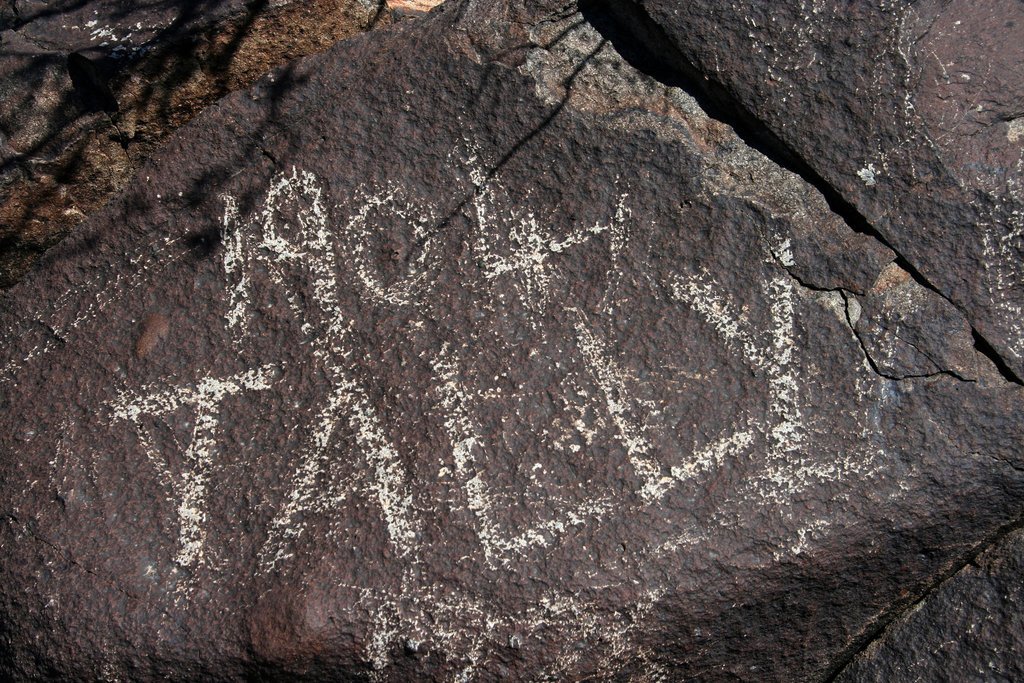
M 664 30 L 1024 377 L 1024 4 L 601 4 Z

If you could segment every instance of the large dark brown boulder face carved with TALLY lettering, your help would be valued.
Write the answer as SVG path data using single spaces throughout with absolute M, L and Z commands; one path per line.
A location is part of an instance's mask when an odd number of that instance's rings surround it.
M 11 291 L 4 675 L 821 679 L 1020 518 L 968 321 L 582 9 L 273 72 Z

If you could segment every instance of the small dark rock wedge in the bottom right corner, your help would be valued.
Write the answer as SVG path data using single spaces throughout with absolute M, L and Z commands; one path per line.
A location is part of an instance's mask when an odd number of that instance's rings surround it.
M 836 679 L 1024 679 L 1024 533 L 1015 531 L 945 582 Z

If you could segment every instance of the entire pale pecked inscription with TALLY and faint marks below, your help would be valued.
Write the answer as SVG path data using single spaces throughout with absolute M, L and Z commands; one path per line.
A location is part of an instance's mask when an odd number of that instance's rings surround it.
M 390 435 L 382 411 L 393 398 L 388 394 L 393 387 L 378 385 L 360 372 L 365 351 L 358 324 L 400 317 L 404 323 L 396 334 L 396 348 L 412 346 L 420 331 L 436 326 L 442 316 L 443 311 L 431 299 L 431 288 L 445 268 L 456 265 L 453 258 L 475 264 L 470 268 L 464 263 L 462 276 L 477 273 L 475 282 L 465 283 L 465 291 L 480 299 L 479 309 L 497 309 L 502 305 L 498 292 L 511 289 L 521 304 L 522 322 L 536 331 L 538 339 L 552 334 L 545 329 L 552 314 L 567 315 L 558 334 L 568 342 L 559 348 L 568 365 L 558 366 L 551 381 L 578 384 L 575 397 L 566 400 L 558 421 L 548 423 L 536 436 L 531 447 L 540 452 L 521 454 L 537 462 L 515 471 L 495 471 L 496 454 L 506 446 L 493 440 L 493 426 L 481 422 L 479 407 L 499 399 L 510 405 L 506 410 L 515 411 L 516 400 L 528 400 L 529 396 L 503 393 L 500 377 L 481 376 L 473 370 L 473 355 L 479 352 L 474 344 L 485 343 L 478 340 L 481 330 L 471 331 L 461 343 L 424 343 L 423 348 L 430 350 L 416 353 L 432 375 L 429 384 L 421 388 L 426 391 L 426 415 L 447 440 L 447 451 L 432 461 L 436 462 L 432 476 L 450 477 L 459 492 L 433 505 L 453 514 L 460 510 L 466 513 L 460 518 L 469 520 L 479 544 L 479 558 L 493 570 L 509 571 L 524 563 L 545 561 L 547 552 L 566 552 L 558 545 L 560 539 L 604 523 L 624 504 L 656 515 L 671 492 L 699 486 L 705 477 L 714 476 L 725 464 L 755 449 L 768 452 L 769 471 L 750 477 L 750 485 L 770 489 L 766 503 L 771 496 L 771 500 L 786 500 L 799 483 L 790 461 L 800 450 L 803 431 L 794 292 L 781 268 L 772 270 L 775 274 L 763 286 L 772 329 L 759 329 L 707 271 L 655 282 L 649 271 L 634 267 L 627 280 L 621 266 L 637 238 L 636 219 L 625 193 L 611 200 L 605 219 L 579 221 L 558 231 L 557 226 L 546 225 L 539 218 L 539 211 L 529 209 L 529 197 L 519 204 L 511 202 L 506 190 L 487 178 L 477 153 L 457 152 L 454 157 L 476 188 L 468 209 L 471 232 L 461 238 L 469 247 L 464 251 L 449 249 L 451 244 L 445 240 L 451 238 L 436 227 L 440 211 L 418 202 L 397 184 L 356 187 L 336 205 L 338 198 L 324 181 L 292 168 L 272 179 L 251 215 L 241 215 L 237 202 L 224 197 L 226 332 L 242 353 L 250 336 L 258 334 L 257 322 L 268 312 L 264 307 L 271 304 L 265 302 L 283 302 L 274 304 L 270 312 L 278 316 L 276 325 L 293 326 L 297 331 L 303 340 L 300 355 L 266 358 L 266 365 L 258 369 L 226 378 L 126 390 L 112 401 L 111 409 L 115 419 L 135 426 L 146 457 L 170 492 L 180 524 L 176 561 L 197 566 L 205 553 L 205 506 L 217 473 L 214 454 L 223 445 L 218 442 L 222 403 L 247 400 L 249 394 L 271 385 L 284 386 L 293 378 L 315 375 L 321 388 L 313 402 L 301 409 L 311 419 L 294 423 L 289 438 L 298 447 L 282 481 L 282 494 L 268 502 L 272 513 L 264 529 L 265 540 L 257 549 L 258 572 L 281 571 L 293 562 L 301 552 L 298 544 L 312 527 L 311 520 L 318 519 L 322 530 L 326 521 L 327 528 L 334 529 L 330 532 L 341 538 L 350 531 L 332 526 L 333 519 L 341 518 L 346 506 L 372 502 L 403 567 L 403 588 L 401 596 L 359 589 L 368 604 L 375 605 L 378 616 L 368 634 L 368 660 L 383 668 L 396 643 L 430 640 L 440 644 L 444 656 L 465 663 L 468 679 L 494 645 L 490 640 L 506 637 L 500 635 L 504 627 L 494 616 L 500 610 L 474 603 L 469 587 L 439 594 L 439 589 L 415 569 L 423 556 L 420 539 L 428 522 L 414 497 L 414 477 L 425 474 L 422 468 L 413 473 L 403 460 L 404 446 Z M 382 233 L 398 229 L 394 225 L 404 229 L 409 239 L 398 240 L 392 247 Z M 402 250 L 400 257 L 382 260 L 381 254 L 386 256 L 390 249 Z M 594 309 L 566 305 L 551 296 L 552 291 L 570 284 L 562 263 L 577 250 L 591 250 L 585 253 L 605 264 L 601 266 L 602 289 L 590 304 Z M 785 245 L 776 245 L 774 251 L 766 248 L 765 254 L 768 262 L 784 259 Z M 659 422 L 656 401 L 637 393 L 639 380 L 626 371 L 623 350 L 602 327 L 614 316 L 616 307 L 629 305 L 628 296 L 621 292 L 626 285 L 662 300 L 666 310 L 694 311 L 710 324 L 712 337 L 717 335 L 742 364 L 757 371 L 768 389 L 764 424 L 750 423 L 736 415 L 731 427 L 710 440 L 684 445 L 679 434 Z M 346 302 L 353 297 L 358 301 L 361 323 L 351 312 L 346 313 L 351 310 Z M 406 336 L 409 338 L 403 341 Z M 512 386 L 520 372 L 514 365 L 507 366 L 505 375 Z M 691 374 L 700 376 L 695 371 Z M 180 453 L 184 463 L 173 468 L 168 465 L 166 437 L 158 443 L 154 431 L 159 420 L 184 410 L 195 414 L 195 425 L 190 440 L 171 449 Z M 621 482 L 592 480 L 593 475 L 584 478 L 582 473 L 572 481 L 565 478 L 563 470 L 558 474 L 549 471 L 552 463 L 546 459 L 555 454 L 572 454 L 581 459 L 582 471 L 589 471 L 589 456 L 580 444 L 589 447 L 609 435 L 627 453 L 629 466 L 640 482 L 629 503 L 623 500 Z M 175 471 L 180 474 L 175 476 Z M 537 492 L 537 498 L 517 498 L 523 488 Z M 518 506 L 512 516 L 511 500 Z M 689 528 L 645 554 L 656 558 L 698 546 L 710 532 Z M 806 544 L 804 539 L 795 539 L 791 545 L 802 550 Z M 577 634 L 578 639 L 596 638 L 608 645 L 607 656 L 613 658 L 629 647 L 629 633 L 658 597 L 653 591 L 635 610 L 605 620 L 606 626 L 599 628 L 602 620 L 594 613 L 599 601 L 581 598 L 571 588 L 552 589 L 528 624 L 538 633 L 557 625 Z M 465 622 L 472 614 L 478 616 L 476 632 L 445 631 L 444 624 Z M 512 629 L 513 625 L 506 627 Z M 531 633 L 527 629 L 507 637 L 521 642 Z M 567 653 L 560 666 L 567 670 L 573 656 L 578 654 Z

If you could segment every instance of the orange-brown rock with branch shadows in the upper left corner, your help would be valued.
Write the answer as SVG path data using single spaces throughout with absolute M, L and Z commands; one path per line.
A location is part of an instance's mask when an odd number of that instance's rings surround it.
M 0 288 L 230 90 L 370 27 L 369 0 L 62 0 L 0 9 Z

